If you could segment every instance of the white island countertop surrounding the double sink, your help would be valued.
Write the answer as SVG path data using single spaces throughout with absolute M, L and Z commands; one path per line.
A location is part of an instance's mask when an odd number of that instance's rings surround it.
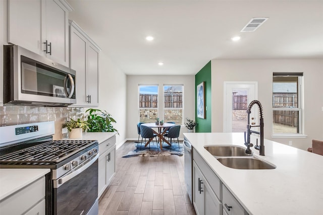
M 207 145 L 244 146 L 243 133 L 184 133 L 249 214 L 323 214 L 323 156 L 264 140 L 265 156 L 276 169 L 239 170 L 222 165 Z M 255 145 L 255 137 L 251 142 Z M 258 141 L 259 142 L 259 141 Z

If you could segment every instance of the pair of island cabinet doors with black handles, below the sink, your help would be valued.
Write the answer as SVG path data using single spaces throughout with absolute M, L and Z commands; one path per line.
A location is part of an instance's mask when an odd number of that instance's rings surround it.
M 193 162 L 193 204 L 196 214 L 222 214 L 222 203 L 204 178 L 197 164 Z

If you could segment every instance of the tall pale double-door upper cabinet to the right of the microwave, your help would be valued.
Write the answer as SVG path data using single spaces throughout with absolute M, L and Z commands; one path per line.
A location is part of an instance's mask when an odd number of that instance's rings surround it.
M 76 70 L 76 102 L 73 106 L 98 106 L 100 48 L 70 21 L 70 67 Z

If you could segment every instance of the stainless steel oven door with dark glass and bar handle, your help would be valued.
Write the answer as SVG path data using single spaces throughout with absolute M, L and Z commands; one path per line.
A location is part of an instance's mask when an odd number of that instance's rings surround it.
M 54 214 L 98 213 L 98 154 L 69 175 L 53 180 Z

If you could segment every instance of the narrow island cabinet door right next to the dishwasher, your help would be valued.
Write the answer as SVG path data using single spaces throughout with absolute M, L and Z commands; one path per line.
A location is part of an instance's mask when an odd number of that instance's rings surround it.
M 197 215 L 204 214 L 204 193 L 200 192 L 201 171 L 193 161 L 193 205 Z

